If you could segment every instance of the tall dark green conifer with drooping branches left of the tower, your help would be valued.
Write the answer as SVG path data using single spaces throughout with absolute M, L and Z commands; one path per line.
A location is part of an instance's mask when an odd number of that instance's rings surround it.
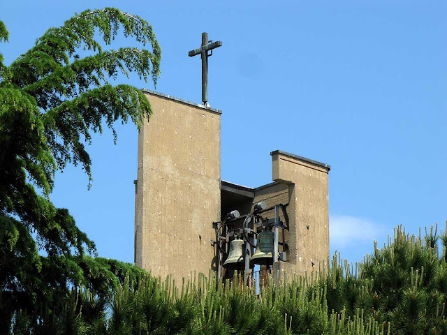
M 117 34 L 143 48 L 103 50 Z M 0 21 L 0 42 L 6 41 L 8 31 Z M 79 51 L 87 55 L 80 57 Z M 124 285 L 125 274 L 135 283 L 143 276 L 131 265 L 86 255 L 96 254 L 94 242 L 49 195 L 55 172 L 68 163 L 82 165 L 90 185 L 85 143 L 90 144 L 91 133 L 111 128 L 116 140 L 115 121 L 139 126 L 149 117 L 151 107 L 140 90 L 109 80 L 133 72 L 156 84 L 160 59 L 152 27 L 115 8 L 85 10 L 48 29 L 9 66 L 0 54 L 0 334 L 11 327 L 19 334 L 44 317 L 47 322 L 38 323 L 34 332 L 86 332 L 77 304 L 50 311 L 48 306 L 66 301 L 72 285 L 106 299 Z M 87 301 L 93 306 L 96 300 Z M 36 312 L 41 309 L 46 316 Z

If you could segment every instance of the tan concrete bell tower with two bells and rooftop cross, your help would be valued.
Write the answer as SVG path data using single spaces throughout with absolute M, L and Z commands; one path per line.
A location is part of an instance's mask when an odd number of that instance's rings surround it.
M 221 180 L 221 111 L 208 103 L 208 58 L 200 54 L 203 105 L 143 89 L 153 114 L 138 137 L 135 264 L 177 283 L 194 272 L 310 274 L 329 258 L 330 166 L 273 151 L 272 179 L 250 188 Z M 262 278 L 261 278 L 262 280 Z

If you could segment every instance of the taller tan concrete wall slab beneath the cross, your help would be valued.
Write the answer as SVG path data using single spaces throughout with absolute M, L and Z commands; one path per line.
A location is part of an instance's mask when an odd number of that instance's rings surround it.
M 177 283 L 212 268 L 220 219 L 220 113 L 145 91 L 153 114 L 138 139 L 135 264 Z

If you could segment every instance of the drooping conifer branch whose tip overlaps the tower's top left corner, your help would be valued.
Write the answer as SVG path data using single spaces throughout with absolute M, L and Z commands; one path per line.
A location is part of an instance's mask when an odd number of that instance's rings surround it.
M 102 133 L 102 123 L 105 121 L 116 140 L 115 121 L 121 119 L 126 123 L 130 117 L 135 124 L 140 124 L 142 110 L 145 114 L 151 113 L 147 99 L 135 87 L 122 84 L 91 89 L 45 114 L 43 120 L 47 124 L 48 144 L 52 151 L 58 153 L 61 168 L 67 162 L 75 165 L 82 163 L 91 177 L 90 158 L 81 142 L 81 135 L 87 142 L 90 141 L 90 131 Z M 62 143 L 57 142 L 59 139 Z

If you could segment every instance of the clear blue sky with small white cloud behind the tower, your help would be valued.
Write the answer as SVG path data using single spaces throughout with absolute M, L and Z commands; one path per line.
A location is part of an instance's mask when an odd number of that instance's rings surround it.
M 222 3 L 225 2 L 225 3 Z M 241 4 L 241 3 L 243 4 Z M 221 177 L 271 180 L 270 151 L 331 165 L 330 249 L 350 261 L 404 225 L 447 219 L 445 1 L 1 1 L 9 64 L 46 29 L 87 8 L 117 7 L 152 24 L 162 49 L 157 91 L 200 103 L 200 34 L 221 40 L 210 105 L 223 111 Z M 119 38 L 115 48 L 134 45 Z M 136 77 L 119 78 L 153 89 Z M 135 126 L 95 136 L 93 187 L 57 174 L 66 207 L 104 257 L 133 262 Z

